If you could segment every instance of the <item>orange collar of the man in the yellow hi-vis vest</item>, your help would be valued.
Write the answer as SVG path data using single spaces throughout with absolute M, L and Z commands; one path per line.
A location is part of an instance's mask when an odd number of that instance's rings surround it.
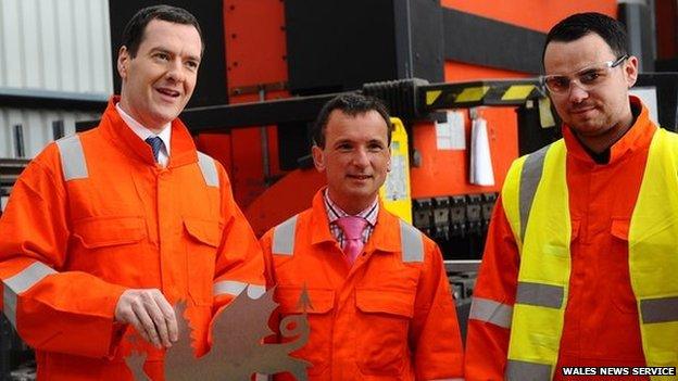
M 567 125 L 563 125 L 563 138 L 567 154 L 577 161 L 585 162 L 588 165 L 607 165 L 618 163 L 626 155 L 638 150 L 648 148 L 652 141 L 652 136 L 656 131 L 657 126 L 650 120 L 648 107 L 635 96 L 629 96 L 631 110 L 640 110 L 640 114 L 636 117 L 636 122 L 626 131 L 626 134 L 610 148 L 610 161 L 606 164 L 597 164 L 589 155 L 586 148 L 579 142 L 579 139 Z

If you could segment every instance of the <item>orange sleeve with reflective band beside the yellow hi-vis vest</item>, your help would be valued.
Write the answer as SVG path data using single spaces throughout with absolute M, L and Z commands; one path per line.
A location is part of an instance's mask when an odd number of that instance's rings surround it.
M 492 213 L 468 319 L 464 367 L 467 381 L 504 379 L 519 258 L 500 196 Z

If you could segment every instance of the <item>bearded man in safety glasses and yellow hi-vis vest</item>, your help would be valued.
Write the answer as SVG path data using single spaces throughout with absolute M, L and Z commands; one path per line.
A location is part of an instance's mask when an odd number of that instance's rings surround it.
M 474 292 L 466 380 L 676 367 L 678 137 L 629 96 L 638 60 L 617 21 L 563 20 L 543 64 L 564 139 L 506 177 Z

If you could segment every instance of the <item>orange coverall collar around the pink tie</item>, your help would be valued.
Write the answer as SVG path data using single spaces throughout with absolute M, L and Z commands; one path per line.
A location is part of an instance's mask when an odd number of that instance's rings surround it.
M 311 206 L 311 244 L 319 244 L 337 241 L 329 231 L 329 218 L 325 208 L 324 193 L 327 187 L 318 190 L 313 196 Z M 398 252 L 400 251 L 400 221 L 384 207 L 381 198 L 377 196 L 378 213 L 376 214 L 375 228 L 365 245 L 366 251 Z

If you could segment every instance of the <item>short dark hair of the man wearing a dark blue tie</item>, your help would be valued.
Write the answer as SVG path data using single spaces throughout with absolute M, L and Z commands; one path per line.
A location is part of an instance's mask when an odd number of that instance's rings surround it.
M 190 12 L 183 8 L 161 4 L 147 7 L 142 10 L 139 10 L 139 12 L 137 12 L 137 14 L 135 14 L 125 26 L 125 30 L 123 30 L 123 46 L 127 47 L 127 51 L 129 52 L 130 58 L 134 59 L 135 56 L 137 56 L 139 46 L 141 45 L 141 41 L 143 41 L 146 26 L 152 20 L 162 20 L 170 23 L 192 25 L 193 27 L 196 27 L 196 30 L 198 30 L 198 35 L 200 35 L 202 50 L 204 50 L 202 29 L 200 29 L 200 24 L 198 24 L 198 20 L 196 20 L 196 16 L 193 16 Z

